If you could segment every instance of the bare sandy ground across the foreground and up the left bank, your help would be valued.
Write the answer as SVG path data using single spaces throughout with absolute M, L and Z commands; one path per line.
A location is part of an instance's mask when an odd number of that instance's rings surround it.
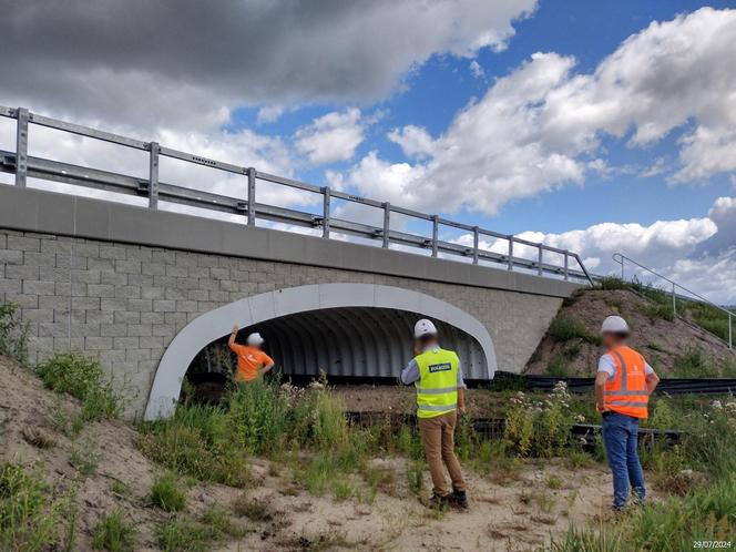
M 91 550 L 91 533 L 100 515 L 113 508 L 139 531 L 136 550 L 155 550 L 153 528 L 167 514 L 151 508 L 146 495 L 159 468 L 135 448 L 136 432 L 122 421 L 88 423 L 74 441 L 54 429 L 52 418 L 71 413 L 79 405 L 42 388 L 31 374 L 0 358 L 0 461 L 35 466 L 57 490 L 76 488 L 80 504 L 75 550 Z M 53 441 L 47 449 L 30 444 L 29 436 Z M 70 464 L 72 450 L 99 454 L 96 471 L 81 477 Z M 466 470 L 471 497 L 468 512 L 438 515 L 421 504 L 408 488 L 403 458 L 374 460 L 392 473 L 371 503 L 330 495 L 314 497 L 294 482 L 278 462 L 253 459 L 255 485 L 245 491 L 224 485 L 195 485 L 188 490 L 187 514 L 197 517 L 211 504 L 228 507 L 241 493 L 260 499 L 270 519 L 236 519 L 251 532 L 239 541 L 217 543 L 219 550 L 534 550 L 561 534 L 605 515 L 611 478 L 603 466 L 568 469 L 561 460 L 527 462 L 513 472 L 494 466 L 489 474 Z M 554 477 L 559 489 L 550 489 Z M 130 492 L 115 494 L 115 481 Z M 365 482 L 356 481 L 360 487 Z M 425 474 L 425 497 L 429 493 Z M 552 485 L 556 487 L 556 485 Z M 330 545 L 334 544 L 334 545 Z

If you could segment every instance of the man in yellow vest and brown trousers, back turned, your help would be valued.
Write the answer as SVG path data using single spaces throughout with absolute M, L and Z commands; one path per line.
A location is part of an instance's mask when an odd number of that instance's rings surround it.
M 430 320 L 416 324 L 415 339 L 415 358 L 401 372 L 401 381 L 417 388 L 419 432 L 435 488 L 430 504 L 467 509 L 466 482 L 454 454 L 458 412 L 466 411 L 460 359 L 454 351 L 440 348 L 437 328 Z M 442 464 L 450 472 L 452 492 L 447 487 Z

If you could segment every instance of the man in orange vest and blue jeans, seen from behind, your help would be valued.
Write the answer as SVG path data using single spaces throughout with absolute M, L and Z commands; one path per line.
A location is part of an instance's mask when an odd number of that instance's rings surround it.
M 642 355 L 626 346 L 626 320 L 609 316 L 601 334 L 607 352 L 599 361 L 595 408 L 603 415 L 603 443 L 613 473 L 613 509 L 622 510 L 632 488 L 640 501 L 646 494 L 638 461 L 638 420 L 648 416 L 650 395 L 660 378 Z

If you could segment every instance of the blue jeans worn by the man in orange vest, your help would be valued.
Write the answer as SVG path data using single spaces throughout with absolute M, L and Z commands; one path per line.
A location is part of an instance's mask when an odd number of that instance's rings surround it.
M 638 461 L 638 418 L 619 412 L 603 417 L 603 443 L 613 473 L 613 508 L 626 505 L 633 488 L 638 500 L 644 500 L 644 472 Z

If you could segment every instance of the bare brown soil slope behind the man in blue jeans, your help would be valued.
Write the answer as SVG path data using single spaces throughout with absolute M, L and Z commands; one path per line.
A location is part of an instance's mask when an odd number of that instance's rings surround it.
M 701 350 L 716 365 L 734 361 L 736 356 L 717 337 L 697 326 L 675 318 L 652 317 L 654 303 L 628 289 L 580 293 L 563 304 L 558 316 L 581 323 L 590 336 L 596 336 L 601 321 L 609 315 L 623 316 L 632 327 L 631 346 L 637 349 L 660 376 L 672 372 L 677 358 Z M 550 331 L 540 343 L 524 374 L 548 374 L 561 365 L 569 376 L 595 375 L 601 346 L 584 338 L 559 340 Z

